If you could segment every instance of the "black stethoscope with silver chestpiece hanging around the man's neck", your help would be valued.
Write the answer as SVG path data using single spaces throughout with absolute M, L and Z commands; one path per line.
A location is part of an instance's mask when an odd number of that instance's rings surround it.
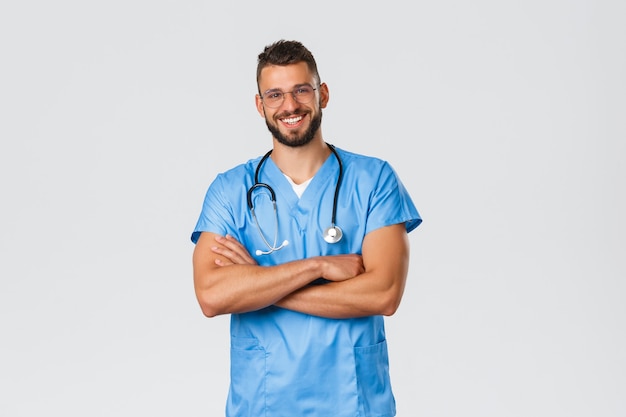
M 331 145 L 330 143 L 327 143 L 327 145 L 328 145 L 328 148 L 332 151 L 333 155 L 335 155 L 335 158 L 337 158 L 337 162 L 339 163 L 339 176 L 337 177 L 337 183 L 335 184 L 335 196 L 333 198 L 333 214 L 331 217 L 330 226 L 324 230 L 322 237 L 328 243 L 337 243 L 343 237 L 343 232 L 341 231 L 341 228 L 335 225 L 335 218 L 337 216 L 337 198 L 339 197 L 339 187 L 341 186 L 341 179 L 343 177 L 343 164 L 341 162 L 341 158 L 339 157 L 339 154 L 335 150 L 335 146 Z M 250 212 L 252 213 L 252 218 L 254 219 L 256 228 L 259 231 L 259 235 L 261 236 L 261 239 L 263 239 L 263 242 L 269 249 L 267 251 L 262 251 L 260 249 L 257 249 L 256 251 L 257 256 L 269 255 L 270 253 L 280 250 L 284 248 L 285 246 L 289 245 L 289 241 L 284 240 L 283 243 L 280 244 L 280 246 L 276 246 L 276 241 L 278 240 L 278 212 L 276 210 L 276 193 L 274 192 L 272 187 L 270 187 L 268 184 L 259 182 L 259 172 L 261 172 L 261 167 L 263 166 L 263 163 L 265 162 L 265 160 L 267 160 L 267 158 L 269 158 L 271 154 L 272 154 L 272 150 L 270 149 L 270 151 L 267 152 L 263 156 L 263 158 L 261 158 L 261 160 L 259 161 L 259 164 L 256 167 L 256 172 L 254 173 L 254 185 L 252 185 L 252 187 L 248 189 L 248 195 L 247 195 L 248 208 L 250 209 Z M 274 243 L 271 245 L 268 242 L 268 240 L 265 238 L 265 235 L 263 234 L 263 230 L 261 230 L 261 226 L 259 226 L 259 221 L 256 218 L 256 214 L 254 213 L 254 204 L 252 204 L 252 192 L 257 188 L 265 188 L 270 193 L 270 200 L 272 202 L 272 205 L 274 206 L 274 218 L 275 218 L 274 224 L 276 227 L 274 229 Z

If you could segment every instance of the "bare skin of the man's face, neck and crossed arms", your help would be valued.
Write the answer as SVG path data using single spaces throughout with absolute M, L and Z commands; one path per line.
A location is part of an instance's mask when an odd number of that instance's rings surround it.
M 259 91 L 294 86 L 315 79 L 305 63 L 269 66 L 262 70 Z M 329 100 L 320 84 L 316 98 L 300 104 L 291 94 L 278 108 L 257 110 L 273 135 L 274 163 L 299 184 L 313 177 L 330 156 L 321 127 L 311 132 L 312 120 L 321 117 Z M 295 124 L 286 119 L 300 117 Z M 280 136 L 280 140 L 276 136 Z M 320 237 L 321 238 L 321 237 Z M 408 273 L 409 241 L 403 224 L 368 233 L 362 255 L 317 256 L 276 266 L 259 266 L 232 236 L 203 232 L 193 253 L 194 288 L 207 317 L 255 311 L 270 305 L 328 318 L 392 315 L 398 309 Z M 331 282 L 307 286 L 317 278 Z

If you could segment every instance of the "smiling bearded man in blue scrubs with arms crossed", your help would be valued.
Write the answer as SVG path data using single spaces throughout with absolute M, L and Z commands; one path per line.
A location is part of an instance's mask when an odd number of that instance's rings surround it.
M 266 46 L 257 85 L 272 148 L 217 175 L 191 235 L 202 312 L 231 317 L 226 416 L 395 416 L 384 316 L 421 217 L 388 162 L 324 139 L 300 42 Z

